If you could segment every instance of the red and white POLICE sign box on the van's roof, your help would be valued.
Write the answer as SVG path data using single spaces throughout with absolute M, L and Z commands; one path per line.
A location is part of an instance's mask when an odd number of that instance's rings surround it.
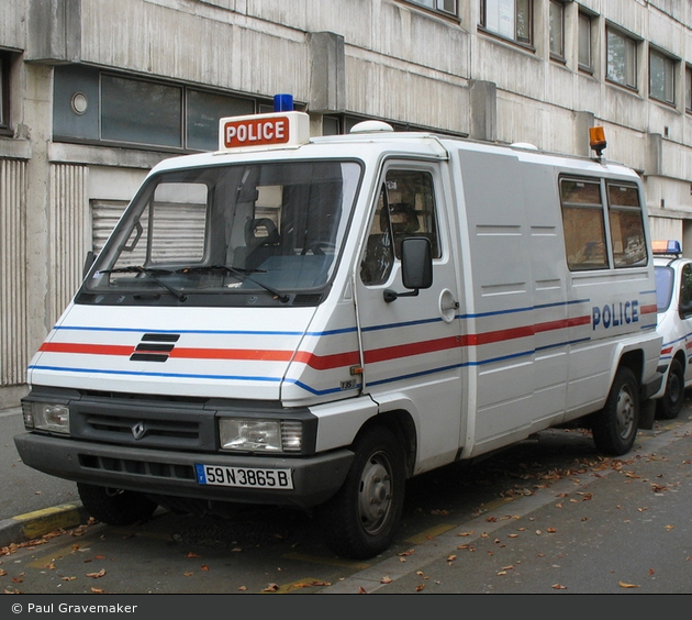
M 290 148 L 310 141 L 305 112 L 226 117 L 219 121 L 219 151 Z

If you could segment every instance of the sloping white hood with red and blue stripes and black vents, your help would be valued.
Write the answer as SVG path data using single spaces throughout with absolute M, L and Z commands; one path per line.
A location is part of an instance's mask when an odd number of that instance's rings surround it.
M 34 355 L 30 385 L 280 399 L 315 308 L 71 305 Z

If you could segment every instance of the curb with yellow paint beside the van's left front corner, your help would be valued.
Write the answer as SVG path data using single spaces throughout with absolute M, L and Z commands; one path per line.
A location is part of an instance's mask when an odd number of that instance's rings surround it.
M 79 502 L 62 503 L 3 519 L 0 521 L 0 547 L 40 539 L 56 530 L 83 525 L 88 520 L 89 514 Z

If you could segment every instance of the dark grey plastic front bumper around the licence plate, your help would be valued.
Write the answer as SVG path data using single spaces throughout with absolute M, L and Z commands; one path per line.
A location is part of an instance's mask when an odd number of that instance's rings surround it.
M 311 508 L 344 484 L 349 450 L 301 457 L 266 457 L 126 447 L 25 432 L 14 438 L 24 464 L 68 480 L 163 495 L 257 505 Z M 290 468 L 292 489 L 221 487 L 197 481 L 197 463 L 260 469 Z

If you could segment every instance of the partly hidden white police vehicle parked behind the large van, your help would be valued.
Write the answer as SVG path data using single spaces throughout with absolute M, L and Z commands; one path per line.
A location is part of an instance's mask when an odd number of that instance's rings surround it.
M 659 366 L 663 384 L 655 395 L 656 414 L 672 420 L 682 409 L 685 388 L 692 386 L 692 259 L 682 256 L 676 240 L 655 240 L 652 250 L 657 329 L 663 337 Z

